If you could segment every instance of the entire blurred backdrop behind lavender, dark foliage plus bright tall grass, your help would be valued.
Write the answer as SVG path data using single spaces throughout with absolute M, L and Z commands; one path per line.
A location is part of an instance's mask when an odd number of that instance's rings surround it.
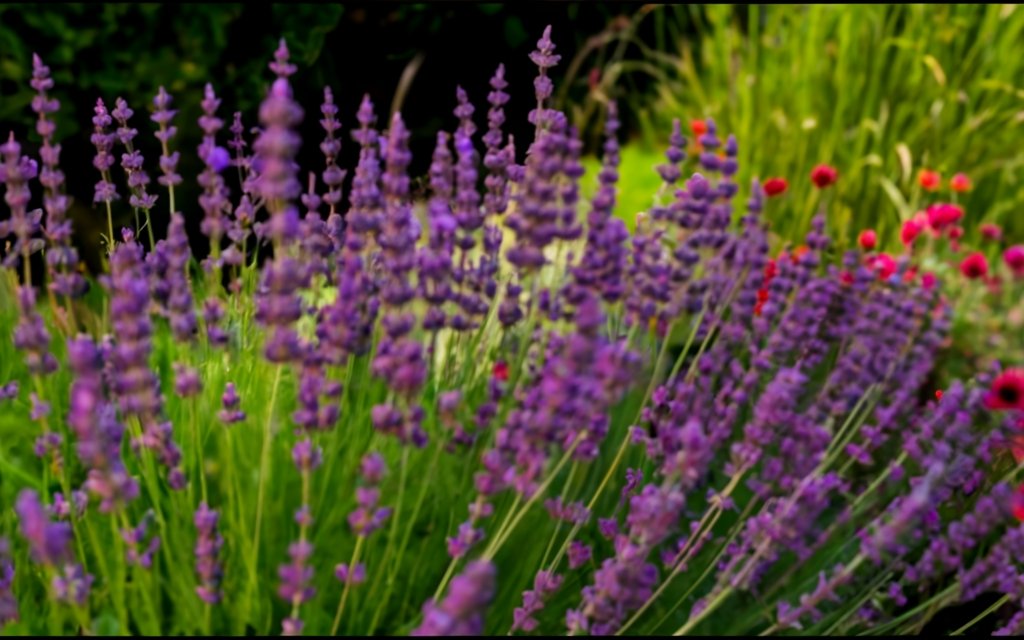
M 553 73 L 556 105 L 581 128 L 588 153 L 599 147 L 603 104 L 609 96 L 620 101 L 627 143 L 618 215 L 631 225 L 650 205 L 658 181 L 652 167 L 662 162 L 672 120 L 688 133 L 692 120 L 713 117 L 739 140 L 744 189 L 756 176 L 790 181 L 769 211 L 782 238 L 807 230 L 818 206 L 807 175 L 818 163 L 840 171 L 828 205 L 841 245 L 874 227 L 883 249 L 898 248 L 901 222 L 935 196 L 918 184 L 924 168 L 944 181 L 955 172 L 971 177 L 973 190 L 951 195 L 972 219 L 967 240 L 982 221 L 1024 232 L 1024 9 L 1015 5 L 4 4 L 0 132 L 28 139 L 30 151 L 38 145 L 29 87 L 38 52 L 56 83 L 56 135 L 77 203 L 72 215 L 95 265 L 103 216 L 89 206 L 97 176 L 88 134 L 97 97 L 113 105 L 122 96 L 135 110 L 155 175 L 159 147 L 148 114 L 158 87 L 167 88 L 179 110 L 179 198 L 194 204 L 205 83 L 222 98 L 225 127 L 236 111 L 247 127 L 255 125 L 271 78 L 267 61 L 285 37 L 306 111 L 300 163 L 319 167 L 316 120 L 330 85 L 346 128 L 364 93 L 379 124 L 400 109 L 413 132 L 412 171 L 422 176 L 436 130 L 455 126 L 457 85 L 484 126 L 487 80 L 500 62 L 512 96 L 507 130 L 529 139 L 536 68 L 527 55 L 546 25 L 562 55 Z M 350 167 L 355 144 L 344 140 Z M 180 208 L 203 253 L 198 216 Z M 158 204 L 155 213 L 160 232 L 167 212 Z

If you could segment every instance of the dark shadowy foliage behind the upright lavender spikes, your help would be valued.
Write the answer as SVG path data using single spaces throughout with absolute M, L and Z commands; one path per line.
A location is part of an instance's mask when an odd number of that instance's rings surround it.
M 194 250 L 202 255 L 207 247 L 199 232 L 195 177 L 202 170 L 196 155 L 201 139 L 196 120 L 203 87 L 212 83 L 222 99 L 218 116 L 225 127 L 218 142 L 224 145 L 230 136 L 227 126 L 233 112 L 243 113 L 247 128 L 257 124 L 259 102 L 272 79 L 267 63 L 279 38 L 287 39 L 292 61 L 298 67 L 292 83 L 306 113 L 299 163 L 317 171 L 323 168 L 317 148 L 323 130 L 317 120 L 324 86 L 333 88 L 340 109 L 342 166 L 352 168 L 356 145 L 348 133 L 361 96 L 369 93 L 374 100 L 378 127 L 383 128 L 403 71 L 421 56 L 400 111 L 413 133 L 411 171 L 422 176 L 436 131 L 455 128 L 457 119 L 452 111 L 457 85 L 467 90 L 476 106 L 478 135 L 485 130 L 487 82 L 500 62 L 506 66 L 511 94 L 506 131 L 521 141 L 517 144 L 521 162 L 532 135 L 526 114 L 535 105 L 532 79 L 537 73 L 527 56 L 547 25 L 552 26 L 556 52 L 562 55 L 552 74 L 556 97 L 562 98 L 560 106 L 568 109 L 584 130 L 588 151 L 593 150 L 599 142 L 603 109 L 590 90 L 591 72 L 613 55 L 620 44 L 613 36 L 628 29 L 631 20 L 638 24 L 638 38 L 651 46 L 657 44 L 658 25 L 639 19 L 651 8 L 626 2 L 2 5 L 0 133 L 6 137 L 7 131 L 14 131 L 27 153 L 34 155 L 38 148 L 29 87 L 32 53 L 37 52 L 51 70 L 55 81 L 51 94 L 61 103 L 56 137 L 63 146 L 61 167 L 75 200 L 71 215 L 76 242 L 95 269 L 105 213 L 91 207 L 98 179 L 91 165 L 95 152 L 89 142 L 92 109 L 97 97 L 112 109 L 115 98 L 122 96 L 135 110 L 131 120 L 139 131 L 135 143 L 154 179 L 151 190 L 156 188 L 161 195 L 154 210 L 159 238 L 166 227 L 167 198 L 156 183 L 160 147 L 148 117 L 153 96 L 159 86 L 165 86 L 179 111 L 175 121 L 179 133 L 172 148 L 181 152 L 179 173 L 184 183 L 176 189 L 177 208 L 185 214 Z M 610 37 L 602 40 L 605 36 Z M 598 40 L 594 43 L 597 46 L 586 46 L 591 39 Z M 572 58 L 581 51 L 584 55 L 573 66 Z M 636 54 L 632 45 L 618 51 L 621 57 Z M 573 67 L 573 73 L 566 77 Z M 628 75 L 618 82 L 616 97 L 641 99 L 650 88 L 642 75 Z M 569 105 L 575 105 L 574 111 Z M 636 122 L 625 102 L 624 106 L 623 134 L 628 135 L 636 129 Z M 121 178 L 118 186 L 124 194 L 119 166 L 114 174 Z M 227 177 L 237 194 L 237 180 L 232 175 Z M 305 173 L 302 182 L 305 184 Z M 4 211 L 2 215 L 8 214 Z M 115 215 L 116 223 L 133 220 L 125 201 L 119 203 Z

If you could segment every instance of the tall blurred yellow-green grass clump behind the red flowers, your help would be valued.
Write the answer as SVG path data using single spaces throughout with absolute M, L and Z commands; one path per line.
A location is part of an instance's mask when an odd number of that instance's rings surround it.
M 645 143 L 660 150 L 672 118 L 713 117 L 740 140 L 741 196 L 751 177 L 784 176 L 773 228 L 806 232 L 811 168 L 840 171 L 829 224 L 852 244 L 876 227 L 898 247 L 921 204 L 916 174 L 966 172 L 968 239 L 995 221 L 1024 232 L 1024 11 L 1014 5 L 715 5 L 662 7 L 669 58 L 647 51 L 665 82 Z M 683 29 L 697 37 L 684 38 Z M 895 187 L 895 188 L 894 188 Z M 896 198 L 910 194 L 907 203 Z M 627 214 L 629 212 L 626 212 Z

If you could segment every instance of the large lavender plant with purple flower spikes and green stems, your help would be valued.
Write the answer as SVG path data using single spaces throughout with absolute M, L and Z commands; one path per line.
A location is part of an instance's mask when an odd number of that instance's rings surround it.
M 524 155 L 502 131 L 504 67 L 485 132 L 456 91 L 425 202 L 400 114 L 379 129 L 369 96 L 345 188 L 334 92 L 296 103 L 284 42 L 251 140 L 254 116 L 228 139 L 207 86 L 198 203 L 174 198 L 171 96 L 150 119 L 167 198 L 146 190 L 132 111 L 98 99 L 109 272 L 91 298 L 36 58 L 45 174 L 13 135 L 0 148 L 6 631 L 911 633 L 988 592 L 972 624 L 1021 630 L 1024 372 L 933 399 L 938 287 L 906 261 L 829 263 L 826 209 L 773 254 L 765 190 L 737 206 L 739 141 L 713 122 L 685 180 L 675 123 L 631 236 L 609 103 L 581 202 L 579 133 L 548 103 L 559 58 L 546 30 Z M 303 141 L 317 110 L 324 139 Z M 297 165 L 303 143 L 322 164 Z M 113 228 L 119 194 L 137 228 Z

